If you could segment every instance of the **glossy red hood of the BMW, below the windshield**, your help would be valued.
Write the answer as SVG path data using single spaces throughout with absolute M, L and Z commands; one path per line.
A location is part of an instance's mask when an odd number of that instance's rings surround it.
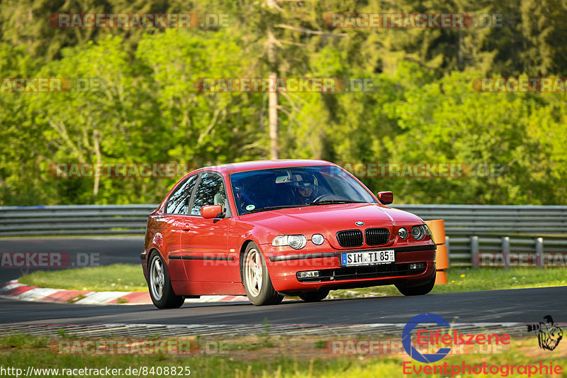
M 341 248 L 335 238 L 340 230 L 388 228 L 393 243 L 395 227 L 423 223 L 412 213 L 378 204 L 335 204 L 262 211 L 242 216 L 242 221 L 271 228 L 282 235 L 301 233 L 310 238 L 314 233 L 321 233 L 335 248 Z M 357 226 L 355 222 L 364 222 L 364 225 Z

